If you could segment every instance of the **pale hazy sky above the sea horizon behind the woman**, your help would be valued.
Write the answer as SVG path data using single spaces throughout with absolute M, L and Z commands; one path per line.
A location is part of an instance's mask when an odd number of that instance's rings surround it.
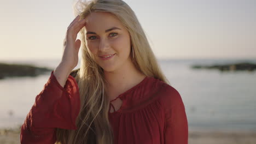
M 0 60 L 61 58 L 73 2 L 0 0 Z M 254 0 L 125 2 L 158 58 L 256 58 Z

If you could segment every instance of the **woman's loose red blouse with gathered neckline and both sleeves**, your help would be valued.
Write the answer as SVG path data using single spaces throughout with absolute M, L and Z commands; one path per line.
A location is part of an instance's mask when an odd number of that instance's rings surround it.
M 120 109 L 109 121 L 116 143 L 187 144 L 188 121 L 181 95 L 172 86 L 146 77 L 118 96 Z M 117 99 L 118 99 L 117 98 Z M 111 103 L 110 103 L 111 106 Z M 51 72 L 21 127 L 21 143 L 55 143 L 55 128 L 77 129 L 80 110 L 78 85 L 69 75 L 61 87 Z

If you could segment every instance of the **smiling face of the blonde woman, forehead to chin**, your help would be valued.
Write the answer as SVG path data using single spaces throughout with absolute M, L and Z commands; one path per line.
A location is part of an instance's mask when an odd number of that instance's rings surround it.
M 110 13 L 91 13 L 86 18 L 85 39 L 95 61 L 104 71 L 118 70 L 132 63 L 130 34 Z

